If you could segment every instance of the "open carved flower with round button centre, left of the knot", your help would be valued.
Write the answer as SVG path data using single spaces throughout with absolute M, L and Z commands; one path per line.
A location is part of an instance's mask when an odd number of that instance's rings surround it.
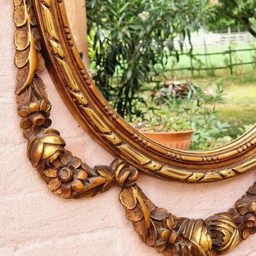
M 56 168 L 44 170 L 44 174 L 53 178 L 49 182 L 49 189 L 61 194 L 64 198 L 70 198 L 72 191 L 81 192 L 84 188 L 83 181 L 88 178 L 81 159 L 71 156 L 69 152 L 60 157 L 60 161 L 54 161 Z

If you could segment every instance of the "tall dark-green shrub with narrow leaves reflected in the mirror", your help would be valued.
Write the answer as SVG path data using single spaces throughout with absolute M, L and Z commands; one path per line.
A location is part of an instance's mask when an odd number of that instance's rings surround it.
M 214 15 L 209 0 L 86 0 L 93 79 L 122 116 L 142 115 L 143 84 L 157 83 L 168 56 Z M 179 38 L 180 49 L 173 39 Z

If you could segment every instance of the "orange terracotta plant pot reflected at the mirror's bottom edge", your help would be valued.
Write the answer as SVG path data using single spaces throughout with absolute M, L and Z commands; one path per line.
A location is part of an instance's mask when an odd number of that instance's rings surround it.
M 141 132 L 151 140 L 165 146 L 180 150 L 188 150 L 194 130 L 179 132 Z

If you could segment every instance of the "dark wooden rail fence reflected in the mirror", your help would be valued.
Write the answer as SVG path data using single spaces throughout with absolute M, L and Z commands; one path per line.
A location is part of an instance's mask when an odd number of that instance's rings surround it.
M 232 47 L 228 47 L 227 51 L 223 52 L 211 52 L 208 53 L 205 51 L 204 53 L 196 53 L 194 54 L 193 51 L 187 52 L 187 53 L 182 53 L 180 56 L 188 56 L 189 57 L 189 62 L 190 65 L 188 67 L 182 67 L 182 68 L 171 68 L 170 71 L 179 71 L 179 70 L 190 70 L 191 74 L 193 76 L 195 71 L 200 71 L 200 70 L 218 70 L 218 69 L 229 69 L 230 74 L 234 73 L 234 67 L 236 66 L 241 66 L 241 65 L 256 65 L 256 55 L 255 57 L 252 55 L 253 61 L 246 61 L 246 62 L 238 62 L 236 61 L 236 52 L 248 52 L 248 51 L 256 51 L 256 48 L 251 48 L 251 49 L 232 49 Z M 227 63 L 224 63 L 224 65 L 221 66 L 214 66 L 214 65 L 209 65 L 209 56 L 227 56 Z M 198 60 L 197 57 L 205 57 L 205 63 L 201 67 L 196 67 L 196 64 L 193 62 L 195 60 Z M 210 67 L 211 66 L 211 67 Z

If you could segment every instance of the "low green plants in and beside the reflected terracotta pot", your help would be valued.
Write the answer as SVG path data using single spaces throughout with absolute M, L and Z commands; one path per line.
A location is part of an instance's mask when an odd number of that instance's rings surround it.
M 186 131 L 194 129 L 191 149 L 205 150 L 227 142 L 227 122 L 220 122 L 216 105 L 224 102 L 225 91 L 221 84 L 216 84 L 210 90 L 187 82 L 188 92 L 182 97 L 173 97 L 173 93 L 152 97 L 152 103 L 147 110 L 145 119 L 138 124 L 134 116 L 134 127 L 141 131 Z M 170 92 L 170 91 L 169 91 Z M 231 138 L 230 138 L 231 139 Z M 229 141 L 228 141 L 229 142 Z

